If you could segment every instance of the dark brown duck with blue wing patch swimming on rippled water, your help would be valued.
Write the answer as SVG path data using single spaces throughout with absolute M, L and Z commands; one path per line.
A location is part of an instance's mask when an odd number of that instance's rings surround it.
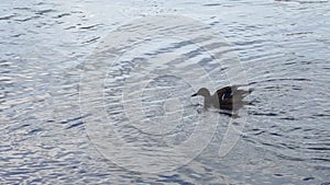
M 208 89 L 201 88 L 191 96 L 204 96 L 205 107 L 212 106 L 216 108 L 230 111 L 239 109 L 246 104 L 243 99 L 252 92 L 252 90 L 239 90 L 239 86 L 241 85 L 224 86 L 220 90 L 217 90 L 213 95 L 211 95 Z

